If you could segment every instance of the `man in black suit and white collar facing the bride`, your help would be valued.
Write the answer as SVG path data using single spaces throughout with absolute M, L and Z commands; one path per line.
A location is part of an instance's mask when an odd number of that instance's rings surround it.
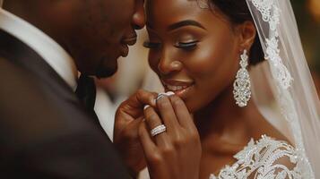
M 117 72 L 144 21 L 143 0 L 4 0 L 0 178 L 130 177 L 99 126 L 88 76 Z M 152 98 L 137 93 L 128 108 Z

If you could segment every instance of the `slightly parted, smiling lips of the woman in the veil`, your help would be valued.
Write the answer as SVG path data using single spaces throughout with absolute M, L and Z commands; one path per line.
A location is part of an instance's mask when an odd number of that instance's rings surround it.
M 181 81 L 174 79 L 162 79 L 161 81 L 166 91 L 172 91 L 180 98 L 186 98 L 195 84 L 194 81 Z

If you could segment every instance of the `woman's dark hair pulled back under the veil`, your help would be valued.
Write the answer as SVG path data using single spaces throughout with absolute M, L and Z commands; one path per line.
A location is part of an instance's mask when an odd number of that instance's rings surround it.
M 203 0 L 197 0 L 203 4 Z M 241 24 L 245 21 L 253 21 L 251 13 L 247 7 L 246 0 L 206 0 L 212 12 L 223 13 L 232 24 Z M 258 35 L 250 49 L 250 64 L 255 65 L 264 61 L 264 51 L 261 47 Z

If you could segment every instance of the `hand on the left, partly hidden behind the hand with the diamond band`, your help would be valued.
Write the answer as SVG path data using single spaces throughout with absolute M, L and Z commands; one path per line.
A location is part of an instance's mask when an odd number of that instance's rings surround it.
M 117 108 L 114 143 L 126 166 L 135 174 L 146 166 L 138 133 L 143 120 L 143 107 L 155 107 L 156 97 L 157 93 L 138 90 Z

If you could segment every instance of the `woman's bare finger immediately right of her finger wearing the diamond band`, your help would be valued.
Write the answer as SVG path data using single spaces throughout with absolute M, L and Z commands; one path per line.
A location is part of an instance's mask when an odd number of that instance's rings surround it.
M 177 117 L 170 99 L 167 96 L 163 96 L 157 100 L 157 107 L 161 115 L 161 119 L 167 126 L 168 132 L 177 132 L 179 124 L 177 123 Z

